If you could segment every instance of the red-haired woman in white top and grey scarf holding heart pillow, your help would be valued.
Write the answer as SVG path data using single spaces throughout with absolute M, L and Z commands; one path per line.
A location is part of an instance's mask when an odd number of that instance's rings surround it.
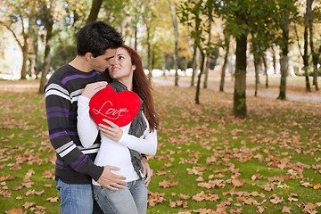
M 101 132 L 101 147 L 95 158 L 98 166 L 116 166 L 115 174 L 126 177 L 127 185 L 103 187 L 93 180 L 95 200 L 105 213 L 146 213 L 147 185 L 141 165 L 141 153 L 154 155 L 157 150 L 158 118 L 154 111 L 152 86 L 144 74 L 139 55 L 122 45 L 106 71 L 109 85 L 116 91 L 129 90 L 141 98 L 141 109 L 128 126 L 119 128 L 111 121 L 96 126 L 89 116 L 90 98 L 102 89 L 86 87 L 78 98 L 78 135 L 89 147 Z M 117 186 L 117 185 L 115 185 Z

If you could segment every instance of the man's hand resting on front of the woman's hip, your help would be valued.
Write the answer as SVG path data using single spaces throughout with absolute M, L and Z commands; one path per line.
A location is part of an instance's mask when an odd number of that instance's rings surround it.
M 104 187 L 114 191 L 119 190 L 119 188 L 123 189 L 124 185 L 126 185 L 126 182 L 124 181 L 126 177 L 116 175 L 112 173 L 111 170 L 118 171 L 119 168 L 112 166 L 104 166 L 103 174 L 97 180 L 98 184 L 103 185 Z

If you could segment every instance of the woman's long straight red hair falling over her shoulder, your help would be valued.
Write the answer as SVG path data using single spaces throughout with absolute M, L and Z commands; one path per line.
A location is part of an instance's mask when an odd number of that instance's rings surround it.
M 144 115 L 148 120 L 151 131 L 153 131 L 154 129 L 157 129 L 159 119 L 153 103 L 151 82 L 144 73 L 143 63 L 138 53 L 128 45 L 121 45 L 120 47 L 127 50 L 132 65 L 136 66 L 136 70 L 134 70 L 133 73 L 133 91 L 143 100 Z M 105 71 L 105 73 L 107 79 L 111 81 L 112 78 L 109 72 Z

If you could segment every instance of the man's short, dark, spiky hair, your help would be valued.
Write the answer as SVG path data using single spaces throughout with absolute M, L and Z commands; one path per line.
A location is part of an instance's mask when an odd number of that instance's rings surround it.
M 103 55 L 107 49 L 116 49 L 124 43 L 121 34 L 103 21 L 92 21 L 80 29 L 77 36 L 77 53 Z

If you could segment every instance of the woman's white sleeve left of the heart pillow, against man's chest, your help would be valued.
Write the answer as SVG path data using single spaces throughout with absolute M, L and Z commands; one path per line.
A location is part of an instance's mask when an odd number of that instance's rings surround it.
M 98 135 L 95 121 L 89 114 L 90 99 L 80 95 L 78 98 L 77 131 L 81 144 L 87 148 L 94 144 Z

